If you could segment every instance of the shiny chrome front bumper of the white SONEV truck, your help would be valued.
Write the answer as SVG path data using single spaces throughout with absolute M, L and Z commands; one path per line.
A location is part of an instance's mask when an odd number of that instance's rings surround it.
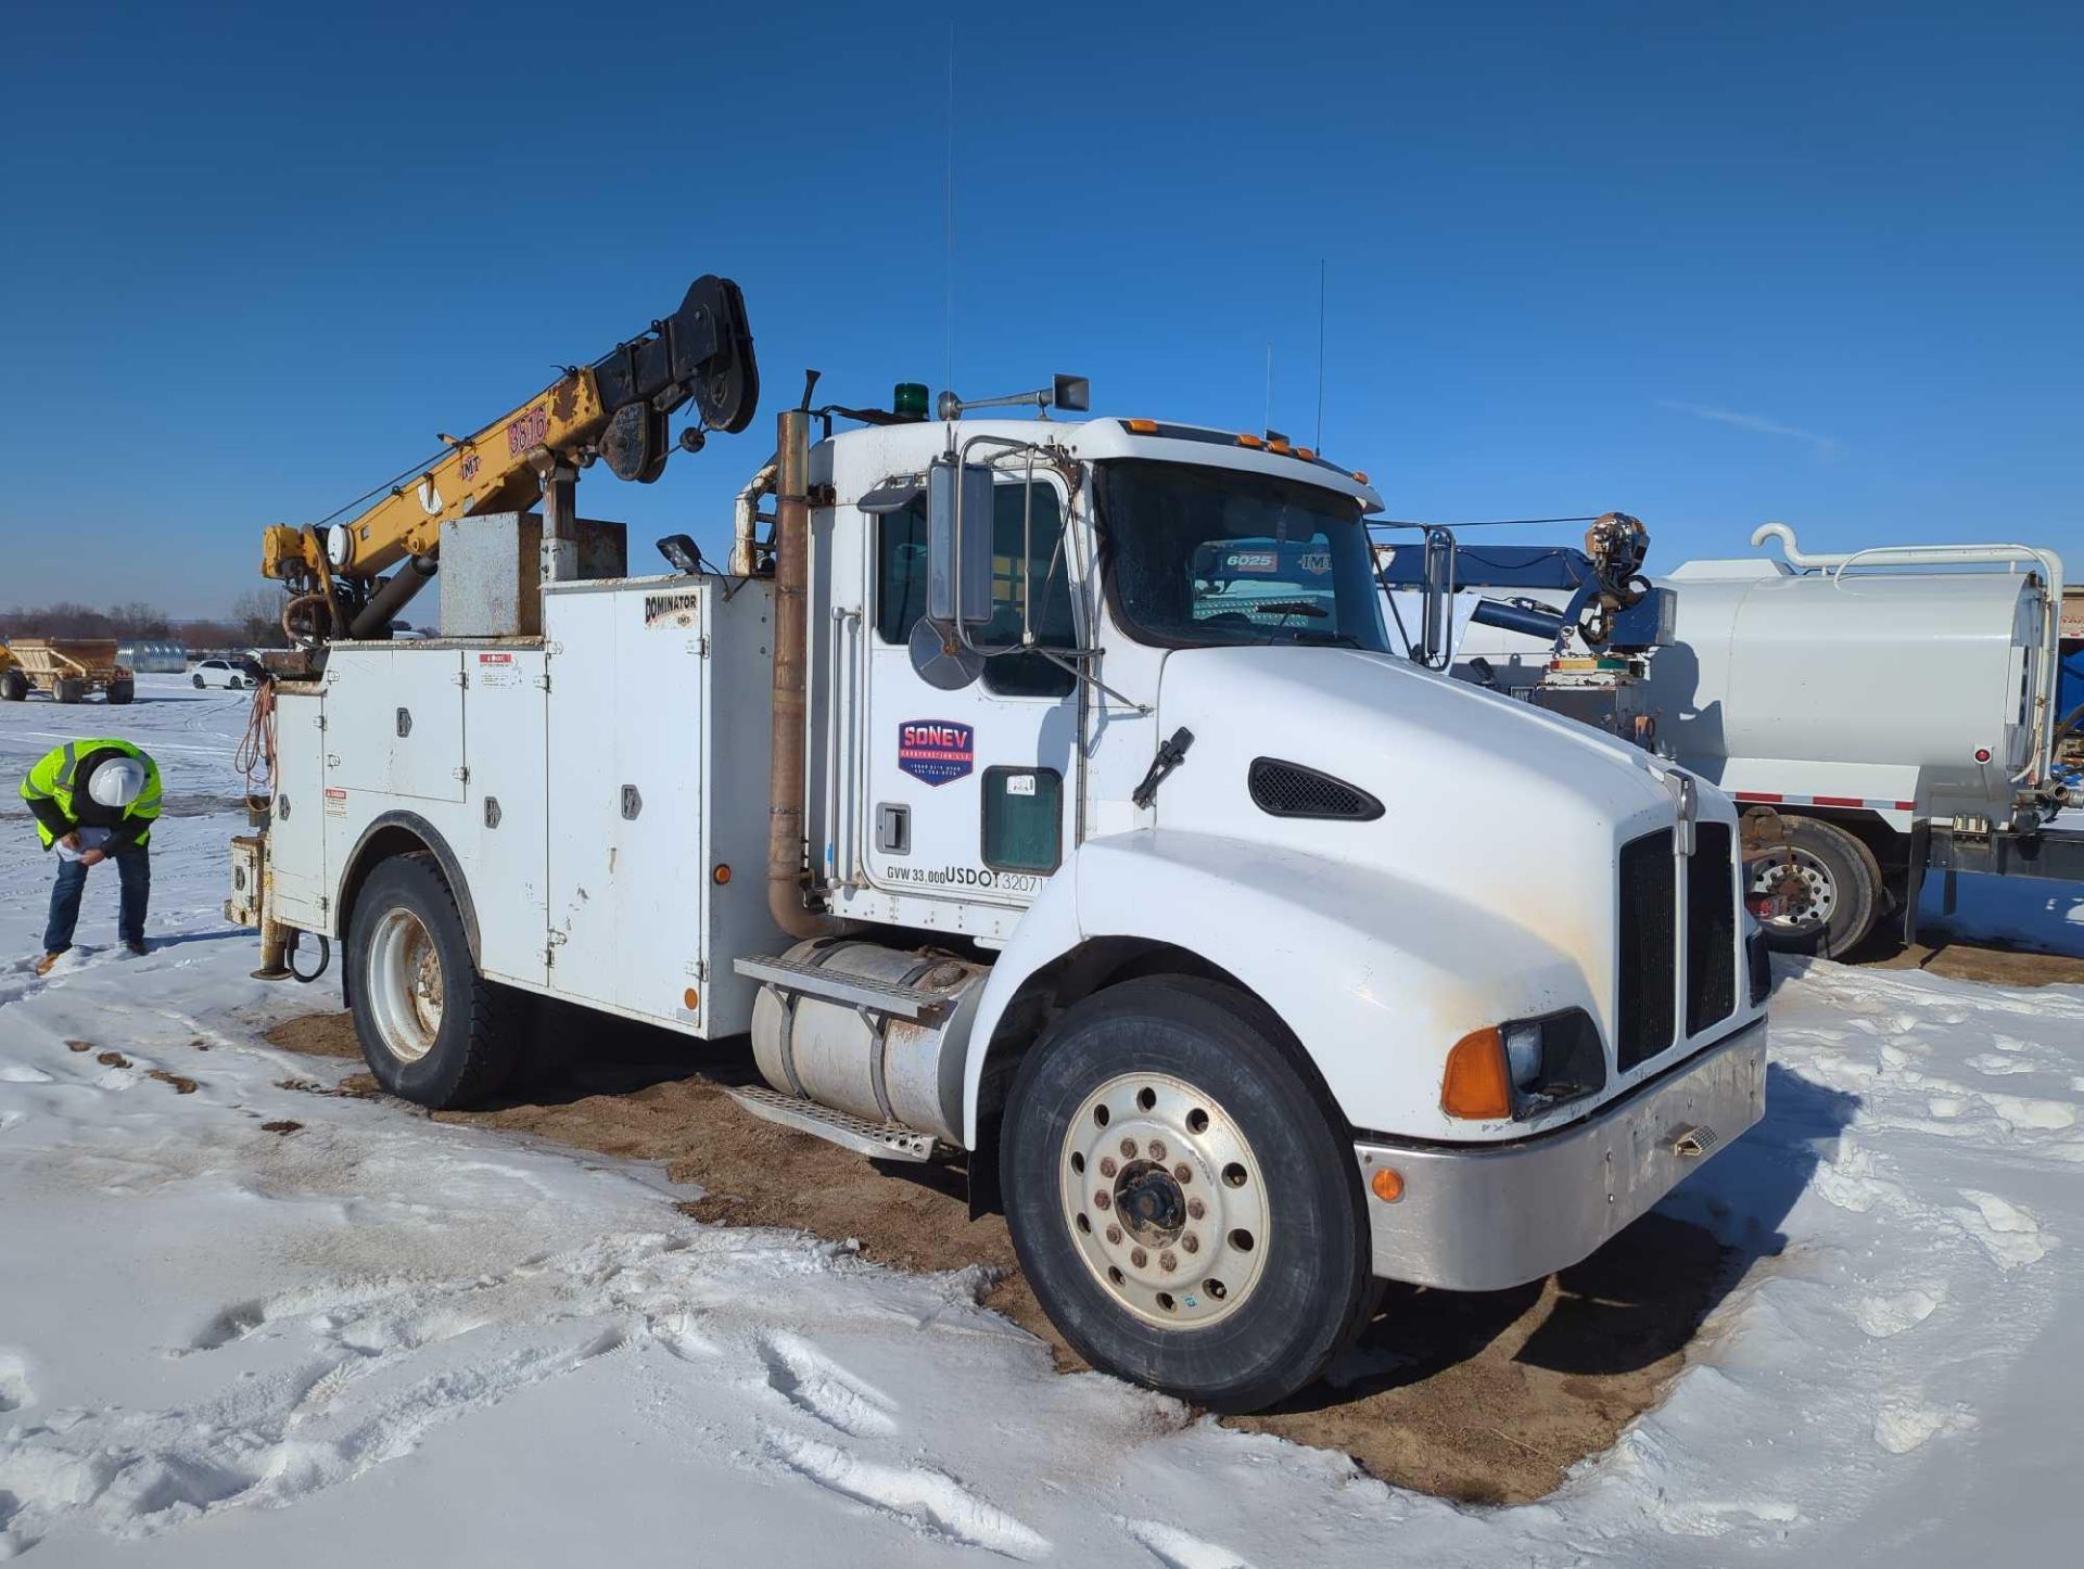
M 1765 1115 L 1765 1019 L 1519 1144 L 1355 1144 L 1384 1279 L 1496 1292 L 1565 1269 Z M 1394 1202 L 1369 1177 L 1392 1167 Z

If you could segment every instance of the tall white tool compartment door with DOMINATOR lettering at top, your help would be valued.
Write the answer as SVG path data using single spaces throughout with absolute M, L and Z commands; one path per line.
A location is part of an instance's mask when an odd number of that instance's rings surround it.
M 704 588 L 544 596 L 550 988 L 694 1033 L 709 877 L 704 623 Z

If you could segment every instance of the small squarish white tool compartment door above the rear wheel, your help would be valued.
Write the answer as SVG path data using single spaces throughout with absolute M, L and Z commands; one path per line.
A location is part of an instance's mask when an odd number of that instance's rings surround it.
M 325 738 L 333 790 L 463 800 L 463 650 L 336 648 Z

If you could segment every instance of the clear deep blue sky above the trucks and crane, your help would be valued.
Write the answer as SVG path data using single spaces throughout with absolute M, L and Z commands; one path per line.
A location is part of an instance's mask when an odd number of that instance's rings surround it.
M 2084 519 L 2074 4 L 967 6 L 954 385 L 1317 429 L 1400 517 L 1653 567 Z M 581 510 L 727 536 L 800 371 L 940 388 L 950 13 L 15 6 L 0 606 L 223 611 L 308 521 L 740 279 L 740 438 Z

